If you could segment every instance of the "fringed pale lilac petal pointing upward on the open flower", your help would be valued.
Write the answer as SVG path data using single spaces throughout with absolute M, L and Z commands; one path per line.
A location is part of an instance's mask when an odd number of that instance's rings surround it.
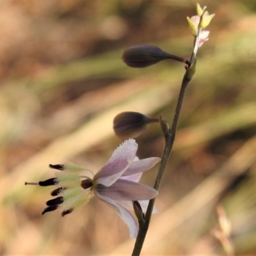
M 111 186 L 115 183 L 134 160 L 137 149 L 138 144 L 135 140 L 124 141 L 116 148 L 109 161 L 95 174 L 93 183 L 104 186 Z

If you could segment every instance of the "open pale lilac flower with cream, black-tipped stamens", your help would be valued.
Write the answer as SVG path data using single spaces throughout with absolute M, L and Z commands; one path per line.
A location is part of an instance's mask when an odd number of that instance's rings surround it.
M 132 210 L 132 202 L 138 201 L 143 212 L 146 211 L 148 200 L 158 194 L 156 189 L 138 183 L 143 172 L 152 168 L 161 159 L 150 157 L 138 159 L 136 152 L 138 144 L 135 140 L 124 141 L 113 152 L 109 161 L 97 172 L 94 177 L 90 170 L 75 164 L 50 164 L 50 168 L 59 170 L 56 177 L 25 184 L 51 186 L 57 185 L 51 193 L 56 198 L 46 202 L 45 212 L 61 209 L 61 215 L 81 209 L 93 195 L 108 203 L 124 220 L 130 232 L 130 237 L 138 234 L 138 224 L 127 209 Z M 85 175 L 88 173 L 92 177 Z M 156 209 L 154 209 L 156 212 Z

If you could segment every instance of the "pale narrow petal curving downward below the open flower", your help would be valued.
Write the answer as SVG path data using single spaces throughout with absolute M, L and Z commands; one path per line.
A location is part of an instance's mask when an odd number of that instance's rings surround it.
M 132 214 L 127 211 L 124 207 L 119 204 L 116 204 L 113 200 L 106 196 L 100 195 L 97 191 L 95 191 L 95 196 L 97 196 L 100 200 L 109 204 L 109 206 L 115 210 L 115 212 L 122 218 L 127 227 L 129 228 L 130 237 L 137 237 L 138 235 L 138 225 L 136 220 L 132 216 Z

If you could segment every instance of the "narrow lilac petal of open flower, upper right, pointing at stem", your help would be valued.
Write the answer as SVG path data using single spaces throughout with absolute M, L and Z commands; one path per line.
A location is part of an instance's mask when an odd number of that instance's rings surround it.
M 132 175 L 134 173 L 145 172 L 152 168 L 153 166 L 155 166 L 155 164 L 157 164 L 160 161 L 161 158 L 159 157 L 149 157 L 138 161 L 134 161 L 130 164 L 130 166 L 127 168 L 127 170 L 122 176 L 124 177 Z

